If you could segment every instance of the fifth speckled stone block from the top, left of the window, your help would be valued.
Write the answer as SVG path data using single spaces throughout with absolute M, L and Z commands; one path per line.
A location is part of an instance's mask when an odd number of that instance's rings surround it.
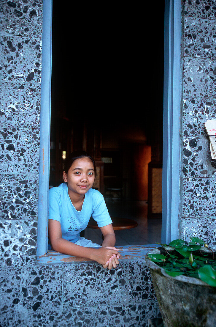
M 0 218 L 37 219 L 38 175 L 0 174 Z

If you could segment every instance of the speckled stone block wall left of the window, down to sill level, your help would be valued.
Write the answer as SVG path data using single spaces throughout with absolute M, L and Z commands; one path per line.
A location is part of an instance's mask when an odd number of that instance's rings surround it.
M 1 267 L 36 263 L 42 0 L 0 3 Z

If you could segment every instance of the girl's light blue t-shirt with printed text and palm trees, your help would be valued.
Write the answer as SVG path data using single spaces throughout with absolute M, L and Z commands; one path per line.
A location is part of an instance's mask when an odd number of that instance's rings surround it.
M 79 233 L 87 227 L 91 216 L 98 223 L 98 227 L 112 224 L 104 198 L 99 191 L 92 188 L 88 190 L 82 210 L 77 211 L 69 198 L 66 183 L 49 190 L 49 219 L 61 223 L 62 238 L 73 243 L 78 241 Z

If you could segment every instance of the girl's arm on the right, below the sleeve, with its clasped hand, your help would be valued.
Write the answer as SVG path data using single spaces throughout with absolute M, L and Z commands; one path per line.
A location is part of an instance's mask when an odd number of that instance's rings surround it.
M 100 230 L 104 237 L 102 247 L 107 247 L 109 249 L 114 247 L 116 244 L 116 236 L 115 236 L 115 232 L 113 230 L 113 225 L 109 224 L 109 225 L 100 227 Z M 118 249 L 116 249 L 116 250 L 118 250 Z M 109 262 L 106 262 L 106 264 L 104 265 L 104 268 L 106 268 L 106 267 L 108 267 L 109 269 L 111 269 L 112 267 L 116 268 L 116 265 L 119 264 L 118 259 L 120 257 L 121 257 L 120 253 L 117 253 L 117 255 L 113 254 L 112 257 L 109 259 Z

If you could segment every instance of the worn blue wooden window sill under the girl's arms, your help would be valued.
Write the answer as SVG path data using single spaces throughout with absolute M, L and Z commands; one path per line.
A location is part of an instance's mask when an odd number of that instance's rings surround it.
M 118 247 L 121 253 L 122 260 L 145 260 L 145 255 L 150 250 L 159 247 L 158 244 L 148 244 L 148 245 L 124 245 Z M 67 255 L 59 253 L 53 250 L 48 250 L 46 255 L 38 256 L 37 262 L 39 265 L 49 265 L 49 264 L 62 264 L 62 263 L 78 263 L 78 262 L 92 262 L 90 259 L 75 257 L 72 255 Z

